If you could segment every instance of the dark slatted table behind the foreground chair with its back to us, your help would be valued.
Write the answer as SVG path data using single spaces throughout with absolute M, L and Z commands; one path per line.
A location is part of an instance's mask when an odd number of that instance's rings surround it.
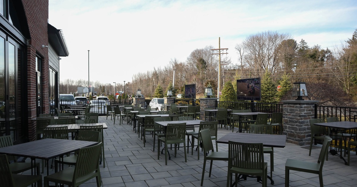
M 266 147 L 285 147 L 286 145 L 286 135 L 277 135 L 277 134 L 251 134 L 251 133 L 228 133 L 217 140 L 218 143 L 228 144 L 228 141 L 236 141 L 242 143 L 263 143 L 263 146 Z M 251 177 L 251 176 L 242 176 L 238 177 L 239 179 Z M 267 178 L 271 181 L 271 184 L 274 184 L 273 179 L 270 176 Z

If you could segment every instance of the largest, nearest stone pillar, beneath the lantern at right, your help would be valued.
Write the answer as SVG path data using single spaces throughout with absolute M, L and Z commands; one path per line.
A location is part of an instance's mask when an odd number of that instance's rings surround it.
M 318 100 L 283 100 L 283 134 L 286 142 L 308 145 L 311 140 L 310 119 L 315 116 Z

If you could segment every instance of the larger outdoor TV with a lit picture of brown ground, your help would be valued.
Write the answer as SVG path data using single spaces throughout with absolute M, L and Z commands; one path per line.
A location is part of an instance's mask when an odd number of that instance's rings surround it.
M 260 101 L 260 77 L 237 80 L 237 99 Z

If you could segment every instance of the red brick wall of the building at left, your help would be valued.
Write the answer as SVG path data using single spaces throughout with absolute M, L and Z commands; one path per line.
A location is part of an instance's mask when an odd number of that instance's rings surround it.
M 22 0 L 27 25 L 29 26 L 30 40 L 27 43 L 27 94 L 28 94 L 28 117 L 29 117 L 29 140 L 36 138 L 36 123 L 30 119 L 36 116 L 36 53 L 42 59 L 42 99 L 44 113 L 49 111 L 48 100 L 48 46 L 47 20 L 48 20 L 48 0 Z

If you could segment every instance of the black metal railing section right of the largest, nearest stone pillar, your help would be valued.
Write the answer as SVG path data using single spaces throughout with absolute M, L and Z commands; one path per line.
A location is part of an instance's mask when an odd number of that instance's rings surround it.
M 315 104 L 315 118 L 338 117 L 340 121 L 356 121 L 356 107 L 322 106 Z

